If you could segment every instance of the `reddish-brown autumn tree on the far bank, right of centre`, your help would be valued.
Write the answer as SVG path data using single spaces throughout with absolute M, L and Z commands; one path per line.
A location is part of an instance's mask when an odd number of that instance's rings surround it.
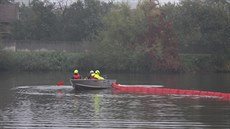
M 178 44 L 171 22 L 166 20 L 156 1 L 146 0 L 138 7 L 144 11 L 147 23 L 142 42 L 147 44 L 146 50 L 153 62 L 150 69 L 179 70 Z

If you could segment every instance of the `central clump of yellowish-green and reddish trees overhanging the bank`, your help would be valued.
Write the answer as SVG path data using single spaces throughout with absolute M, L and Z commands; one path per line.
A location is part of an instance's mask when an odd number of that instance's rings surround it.
M 94 58 L 104 64 L 104 68 L 148 72 L 179 70 L 175 35 L 154 2 L 140 2 L 135 10 L 122 3 L 103 21 L 105 28 L 100 33 Z

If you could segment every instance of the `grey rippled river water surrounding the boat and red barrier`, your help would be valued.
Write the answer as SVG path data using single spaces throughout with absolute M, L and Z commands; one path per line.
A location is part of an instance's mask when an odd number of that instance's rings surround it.
M 86 75 L 86 74 L 85 74 Z M 230 93 L 230 74 L 107 74 L 120 84 Z M 71 73 L 0 72 L 1 129 L 229 129 L 230 102 L 180 95 L 74 91 Z M 56 86 L 64 81 L 63 86 Z

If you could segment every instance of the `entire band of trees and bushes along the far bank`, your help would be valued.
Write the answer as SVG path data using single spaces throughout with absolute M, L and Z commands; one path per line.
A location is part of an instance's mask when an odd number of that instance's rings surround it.
M 125 72 L 230 72 L 229 12 L 227 0 L 165 5 L 141 0 L 135 9 L 98 0 L 70 5 L 33 0 L 20 7 L 14 39 L 90 41 L 94 47 L 69 54 L 0 50 L 0 69 L 72 70 L 77 65 Z

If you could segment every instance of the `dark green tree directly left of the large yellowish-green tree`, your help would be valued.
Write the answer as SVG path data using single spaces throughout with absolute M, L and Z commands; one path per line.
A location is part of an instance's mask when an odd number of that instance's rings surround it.
M 92 40 L 102 29 L 102 17 L 111 8 L 111 3 L 97 0 L 78 0 L 66 8 L 63 15 L 64 39 Z

